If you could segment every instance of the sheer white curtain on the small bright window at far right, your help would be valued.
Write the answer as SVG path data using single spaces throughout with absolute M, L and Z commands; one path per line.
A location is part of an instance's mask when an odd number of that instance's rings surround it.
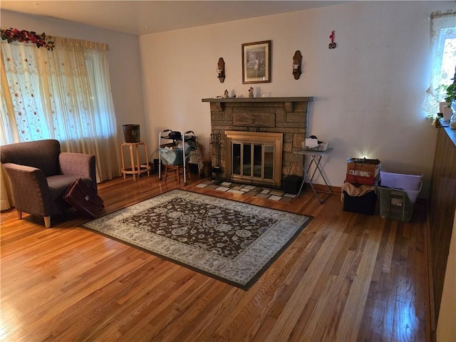
M 423 110 L 432 117 L 445 101 L 441 86 L 452 83 L 456 66 L 456 11 L 432 12 L 430 15 L 432 66 L 430 86 L 426 90 Z

